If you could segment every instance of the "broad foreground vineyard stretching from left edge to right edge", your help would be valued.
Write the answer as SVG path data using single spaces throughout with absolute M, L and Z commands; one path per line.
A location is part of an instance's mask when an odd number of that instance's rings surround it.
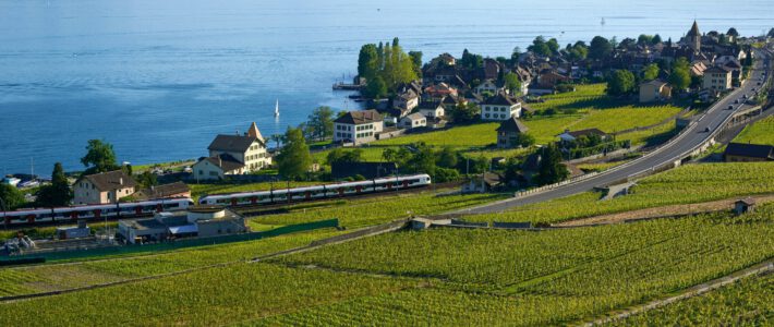
M 496 325 L 504 319 L 521 326 L 566 325 L 773 257 L 773 219 L 774 205 L 763 205 L 740 217 L 712 214 L 542 232 L 395 232 L 259 264 L 234 263 L 3 303 L 0 320 L 33 326 Z M 56 289 L 57 278 L 72 274 L 110 281 L 173 272 L 244 261 L 338 233 L 316 231 L 162 255 L 4 269 L 2 289 L 7 293 Z

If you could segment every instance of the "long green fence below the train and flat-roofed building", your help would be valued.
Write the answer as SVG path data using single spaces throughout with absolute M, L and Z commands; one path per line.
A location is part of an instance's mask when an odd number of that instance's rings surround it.
M 63 261 L 63 259 L 74 259 L 81 257 L 89 256 L 104 256 L 104 255 L 120 255 L 130 254 L 137 252 L 159 252 L 159 251 L 170 251 L 179 250 L 193 246 L 203 245 L 216 245 L 225 243 L 234 243 L 243 241 L 261 240 L 265 238 L 274 238 L 283 234 L 310 231 L 322 228 L 334 228 L 339 226 L 338 219 L 328 219 L 306 223 L 289 225 L 279 227 L 268 231 L 223 235 L 223 237 L 213 237 L 213 238 L 201 238 L 201 239 L 182 239 L 171 242 L 154 243 L 154 244 L 130 244 L 123 246 L 105 246 L 87 250 L 66 250 L 66 251 L 56 251 L 56 252 L 45 252 L 45 253 L 27 253 L 20 256 L 13 256 L 13 259 L 20 258 L 38 258 L 43 257 L 46 261 Z M 0 262 L 5 261 L 1 259 Z

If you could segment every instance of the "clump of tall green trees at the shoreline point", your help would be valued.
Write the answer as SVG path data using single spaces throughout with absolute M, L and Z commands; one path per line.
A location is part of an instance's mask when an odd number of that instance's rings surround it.
M 358 75 L 367 83 L 363 94 L 374 98 L 385 97 L 398 84 L 419 78 L 421 65 L 422 52 L 406 53 L 397 37 L 391 45 L 364 45 L 358 58 Z

